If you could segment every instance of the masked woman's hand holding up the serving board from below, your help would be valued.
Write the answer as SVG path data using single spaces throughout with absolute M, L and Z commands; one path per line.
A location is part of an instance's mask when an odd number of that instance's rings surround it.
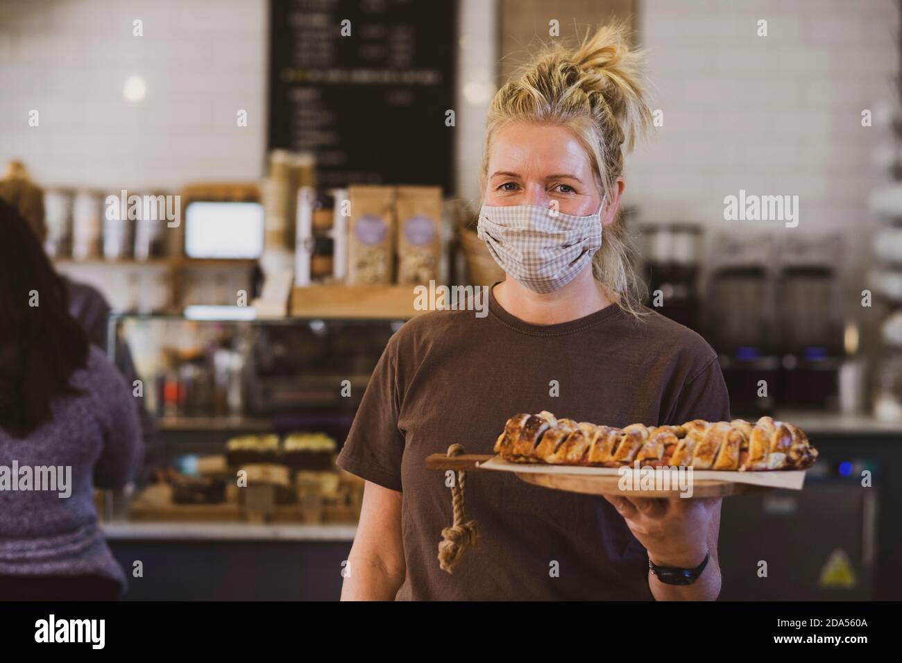
M 721 498 L 682 497 L 649 499 L 604 495 L 620 512 L 636 539 L 657 566 L 695 568 L 711 547 L 709 532 L 715 516 L 720 525 Z M 717 532 L 713 532 L 716 542 Z M 714 546 L 716 548 L 716 544 Z M 716 550 L 711 551 L 716 557 Z

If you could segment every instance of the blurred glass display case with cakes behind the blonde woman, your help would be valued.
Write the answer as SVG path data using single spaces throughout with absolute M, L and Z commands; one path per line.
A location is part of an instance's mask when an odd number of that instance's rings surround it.
M 107 352 L 131 353 L 153 431 L 105 520 L 355 524 L 363 482 L 335 458 L 401 324 L 112 316 Z

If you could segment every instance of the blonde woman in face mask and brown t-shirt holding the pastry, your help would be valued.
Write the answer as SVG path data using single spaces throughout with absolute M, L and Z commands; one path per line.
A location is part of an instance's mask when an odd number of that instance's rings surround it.
M 489 315 L 437 311 L 392 336 L 338 465 L 366 479 L 345 599 L 708 599 L 720 502 L 596 497 L 471 473 L 478 545 L 437 560 L 451 520 L 429 454 L 492 453 L 504 422 L 550 410 L 623 427 L 730 419 L 701 336 L 640 305 L 617 215 L 621 145 L 649 125 L 620 26 L 535 60 L 492 101 L 479 234 L 507 279 Z M 650 564 L 690 569 L 662 582 Z M 664 576 L 667 576 L 666 574 Z

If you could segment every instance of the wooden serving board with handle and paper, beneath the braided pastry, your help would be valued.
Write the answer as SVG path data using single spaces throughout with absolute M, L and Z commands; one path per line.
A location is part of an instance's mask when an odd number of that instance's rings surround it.
M 568 465 L 508 463 L 498 456 L 465 454 L 448 457 L 432 454 L 426 458 L 430 470 L 455 470 L 456 472 L 510 472 L 520 480 L 570 493 L 590 495 L 621 495 L 622 497 L 667 498 L 681 494 L 679 488 L 649 490 L 637 487 L 621 487 L 621 475 L 616 469 L 606 467 L 582 467 Z M 727 497 L 771 490 L 799 490 L 804 482 L 804 471 L 799 472 L 709 472 L 694 471 L 691 494 L 687 497 Z M 735 478 L 733 479 L 733 476 Z

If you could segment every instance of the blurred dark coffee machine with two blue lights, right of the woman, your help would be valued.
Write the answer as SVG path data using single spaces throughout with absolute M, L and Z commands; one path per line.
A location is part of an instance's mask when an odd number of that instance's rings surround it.
M 719 355 L 733 416 L 837 408 L 841 249 L 834 235 L 715 238 L 704 336 Z

